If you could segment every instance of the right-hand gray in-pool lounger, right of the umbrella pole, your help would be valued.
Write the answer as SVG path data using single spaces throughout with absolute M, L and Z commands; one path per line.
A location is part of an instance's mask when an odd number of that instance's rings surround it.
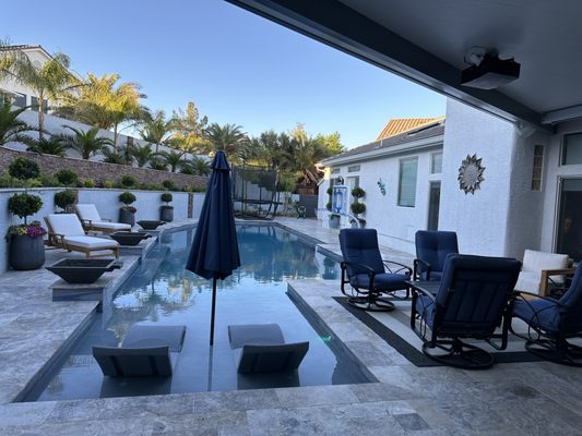
M 277 324 L 228 326 L 239 373 L 278 373 L 297 370 L 309 342 L 285 343 Z

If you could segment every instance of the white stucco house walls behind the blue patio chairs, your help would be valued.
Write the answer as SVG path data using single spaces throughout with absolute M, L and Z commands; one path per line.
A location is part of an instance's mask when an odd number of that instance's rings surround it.
M 465 193 L 460 168 L 474 155 L 484 180 Z M 449 99 L 446 122 L 393 133 L 322 165 L 320 210 L 330 179 L 341 175 L 366 191 L 367 227 L 389 246 L 414 253 L 417 230 L 439 229 L 456 231 L 464 253 L 521 258 L 533 249 L 582 259 L 582 120 L 551 134 Z

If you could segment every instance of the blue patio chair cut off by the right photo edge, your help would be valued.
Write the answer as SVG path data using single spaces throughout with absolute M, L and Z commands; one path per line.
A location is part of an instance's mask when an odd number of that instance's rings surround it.
M 527 335 L 525 349 L 551 362 L 582 366 L 582 347 L 569 339 L 582 338 L 582 267 L 578 266 L 572 282 L 559 299 L 527 292 L 515 292 L 512 316 L 524 320 Z

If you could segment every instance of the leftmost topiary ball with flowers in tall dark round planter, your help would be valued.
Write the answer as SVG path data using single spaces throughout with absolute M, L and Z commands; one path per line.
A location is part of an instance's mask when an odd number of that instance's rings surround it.
M 38 269 L 45 264 L 45 245 L 43 235 L 46 230 L 40 222 L 27 223 L 27 217 L 43 207 L 38 195 L 26 192 L 14 194 L 8 199 L 8 210 L 24 220 L 24 223 L 8 229 L 9 264 L 13 269 Z

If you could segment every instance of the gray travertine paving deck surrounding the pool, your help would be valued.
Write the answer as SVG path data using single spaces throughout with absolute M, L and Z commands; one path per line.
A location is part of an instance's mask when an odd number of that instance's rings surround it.
M 278 221 L 338 253 L 336 230 Z M 138 257 L 122 261 L 119 279 Z M 416 367 L 332 299 L 337 283 L 320 280 L 289 288 L 379 383 L 12 403 L 95 308 L 52 302 L 54 280 L 44 269 L 0 276 L 0 435 L 582 435 L 582 370 L 547 362 L 485 372 Z

